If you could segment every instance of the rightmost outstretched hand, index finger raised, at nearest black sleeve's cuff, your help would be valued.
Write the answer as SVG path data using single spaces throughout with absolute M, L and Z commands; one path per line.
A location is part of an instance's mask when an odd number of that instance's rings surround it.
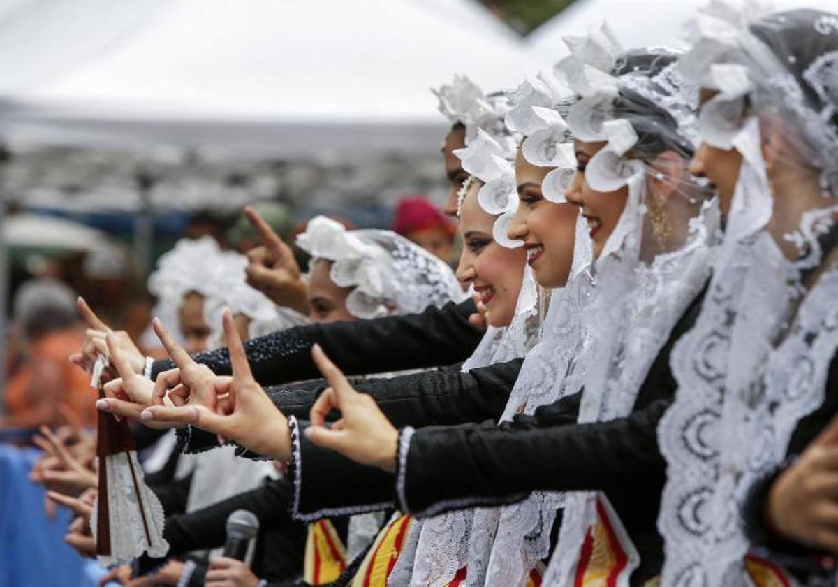
M 372 397 L 354 390 L 319 345 L 314 345 L 312 355 L 329 387 L 312 406 L 308 439 L 362 465 L 395 471 L 398 430 Z M 328 429 L 326 416 L 333 409 L 340 411 L 340 419 Z

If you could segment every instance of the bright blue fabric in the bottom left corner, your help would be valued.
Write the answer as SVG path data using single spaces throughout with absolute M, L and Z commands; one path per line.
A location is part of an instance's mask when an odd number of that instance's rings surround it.
M 64 536 L 72 512 L 50 520 L 44 490 L 27 476 L 40 451 L 0 444 L 0 587 L 95 585 Z

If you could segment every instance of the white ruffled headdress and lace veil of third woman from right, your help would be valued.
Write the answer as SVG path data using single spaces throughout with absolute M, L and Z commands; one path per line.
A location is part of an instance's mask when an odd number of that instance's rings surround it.
M 566 179 L 575 166 L 572 143 L 561 112 L 570 104 L 548 75 L 525 81 L 510 94 L 513 107 L 507 126 L 522 132 L 521 151 L 531 163 L 553 169 L 542 191 L 547 200 L 564 202 Z M 565 374 L 580 344 L 579 317 L 589 293 L 590 243 L 581 217 L 577 220 L 573 262 L 565 288 L 551 292 L 539 342 L 525 357 L 510 400 L 500 418 L 531 414 L 565 391 Z M 466 584 L 524 584 L 550 548 L 550 530 L 561 505 L 557 494 L 535 492 L 512 506 L 480 508 L 474 514 Z M 487 558 L 486 553 L 490 553 Z

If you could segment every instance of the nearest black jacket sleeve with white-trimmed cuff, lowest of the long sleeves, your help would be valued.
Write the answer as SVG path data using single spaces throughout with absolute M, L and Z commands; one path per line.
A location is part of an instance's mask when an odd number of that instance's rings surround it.
M 665 468 L 656 429 L 670 402 L 659 399 L 602 423 L 527 430 L 465 424 L 412 434 L 406 429 L 400 439 L 409 442 L 400 446 L 406 459 L 396 472 L 399 505 L 404 512 L 433 515 L 454 502 L 500 505 L 536 490 L 631 486 L 639 475 Z

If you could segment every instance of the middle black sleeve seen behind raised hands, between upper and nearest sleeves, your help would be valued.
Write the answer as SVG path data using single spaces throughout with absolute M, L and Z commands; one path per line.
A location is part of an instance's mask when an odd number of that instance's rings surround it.
M 356 386 L 375 398 L 381 411 L 398 427 L 495 421 L 503 413 L 518 378 L 522 359 L 461 371 L 425 371 L 389 379 L 368 379 Z M 325 385 L 269 388 L 268 394 L 287 417 L 308 419 Z M 214 434 L 194 427 L 178 434 L 186 452 L 218 445 Z M 247 455 L 255 456 L 255 455 Z

